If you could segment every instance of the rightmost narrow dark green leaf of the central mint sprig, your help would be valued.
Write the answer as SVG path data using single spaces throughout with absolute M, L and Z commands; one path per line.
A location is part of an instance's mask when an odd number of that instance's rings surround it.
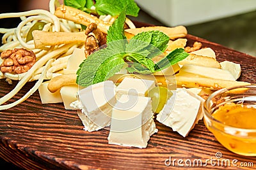
M 166 55 L 166 57 L 164 57 L 163 59 L 159 60 L 159 62 L 157 62 L 157 64 L 155 65 L 155 71 L 160 71 L 162 69 L 165 69 L 166 67 L 172 66 L 180 60 L 186 59 L 188 55 L 189 53 L 185 52 L 183 48 L 177 48 L 172 52 L 168 53 L 168 55 Z

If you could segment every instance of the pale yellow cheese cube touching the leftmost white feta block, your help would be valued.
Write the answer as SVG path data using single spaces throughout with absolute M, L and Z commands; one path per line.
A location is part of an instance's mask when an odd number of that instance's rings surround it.
M 77 100 L 78 85 L 66 85 L 61 87 L 60 94 L 65 106 L 65 110 L 76 110 L 70 104 Z

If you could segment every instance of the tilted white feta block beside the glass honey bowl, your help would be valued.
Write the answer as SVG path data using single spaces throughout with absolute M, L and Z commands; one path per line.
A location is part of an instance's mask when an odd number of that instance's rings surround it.
M 191 96 L 186 89 L 173 90 L 173 96 L 157 115 L 157 120 L 186 137 L 195 125 L 200 106 L 201 101 Z

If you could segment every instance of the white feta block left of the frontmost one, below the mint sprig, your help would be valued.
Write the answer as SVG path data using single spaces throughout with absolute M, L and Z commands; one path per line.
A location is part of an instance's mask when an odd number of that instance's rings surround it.
M 103 81 L 78 91 L 79 102 L 72 104 L 81 109 L 78 115 L 84 130 L 98 131 L 110 125 L 112 108 L 116 103 L 115 89 L 113 81 Z

